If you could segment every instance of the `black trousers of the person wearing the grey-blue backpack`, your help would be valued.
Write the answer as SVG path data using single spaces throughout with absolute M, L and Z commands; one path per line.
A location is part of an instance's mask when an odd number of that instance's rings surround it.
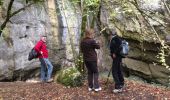
M 115 81 L 115 89 L 120 89 L 124 86 L 124 77 L 122 73 L 122 57 L 117 56 L 112 63 L 112 76 Z

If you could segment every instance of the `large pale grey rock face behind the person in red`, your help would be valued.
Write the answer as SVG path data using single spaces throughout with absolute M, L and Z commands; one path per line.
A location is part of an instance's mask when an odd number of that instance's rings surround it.
M 60 3 L 63 2 L 65 1 L 60 1 Z M 3 11 L 1 9 L 1 23 L 4 20 L 3 15 L 7 11 L 8 3 L 9 0 L 5 1 L 2 7 Z M 73 5 L 68 1 L 67 4 L 69 4 L 69 10 L 72 10 Z M 42 4 L 34 4 L 11 18 L 11 23 L 7 24 L 7 28 L 0 38 L 1 81 L 25 80 L 39 76 L 39 60 L 28 61 L 27 58 L 29 51 L 42 34 L 47 35 L 49 57 L 54 65 L 54 72 L 73 59 L 70 44 L 78 46 L 81 17 L 74 12 L 71 15 L 65 12 L 65 15 L 59 16 L 64 11 L 60 10 L 62 8 L 58 9 L 56 5 L 65 6 L 67 4 L 59 4 L 55 0 L 49 0 Z M 16 0 L 12 9 L 17 10 L 25 5 L 24 2 Z M 74 35 L 72 38 L 75 41 L 69 40 L 68 34 Z

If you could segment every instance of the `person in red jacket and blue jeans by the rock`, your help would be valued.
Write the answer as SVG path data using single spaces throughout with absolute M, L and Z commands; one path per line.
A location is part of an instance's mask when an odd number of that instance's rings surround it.
M 46 45 L 47 36 L 41 36 L 41 39 L 37 42 L 34 49 L 38 52 L 39 60 L 41 62 L 41 81 L 51 82 L 51 74 L 53 71 L 53 65 L 48 59 L 48 50 Z

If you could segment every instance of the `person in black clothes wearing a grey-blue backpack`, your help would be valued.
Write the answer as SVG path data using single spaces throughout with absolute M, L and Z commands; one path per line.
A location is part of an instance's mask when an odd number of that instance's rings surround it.
M 121 38 L 113 30 L 110 33 L 110 55 L 112 57 L 112 76 L 115 82 L 114 93 L 122 92 L 124 86 L 124 77 L 122 74 L 122 56 L 120 55 L 121 51 Z

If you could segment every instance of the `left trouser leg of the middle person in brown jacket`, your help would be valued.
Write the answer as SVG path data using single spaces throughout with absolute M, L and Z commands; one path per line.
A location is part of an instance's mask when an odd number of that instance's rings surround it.
M 88 71 L 88 86 L 89 88 L 93 88 L 93 73 L 91 70 L 91 64 L 89 61 L 85 61 L 85 65 Z

